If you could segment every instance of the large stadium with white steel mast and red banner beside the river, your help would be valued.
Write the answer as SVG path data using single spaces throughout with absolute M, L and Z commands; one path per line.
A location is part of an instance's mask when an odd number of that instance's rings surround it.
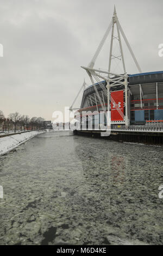
M 117 34 L 115 34 L 115 31 L 117 31 Z M 94 67 L 95 62 L 110 32 L 109 68 L 107 70 L 96 69 Z M 130 75 L 126 70 L 121 36 L 139 71 L 137 74 Z M 117 55 L 113 52 L 115 40 L 120 48 L 120 52 Z M 122 63 L 122 73 L 111 71 L 114 60 Z M 107 125 L 109 119 L 109 124 L 115 125 L 115 128 L 120 128 L 121 125 L 128 127 L 129 125 L 163 124 L 163 71 L 141 71 L 139 63 L 118 21 L 115 8 L 109 27 L 91 62 L 87 66 L 82 66 L 82 68 L 89 75 L 91 86 L 85 88 L 85 82 L 82 86 L 84 92 L 80 109 L 78 109 L 80 123 L 81 121 L 82 123 L 89 123 L 89 120 L 92 118 L 92 124 L 97 124 L 101 119 L 100 114 L 108 112 L 110 113 L 109 118 L 105 114 L 103 123 Z M 81 92 L 82 88 L 79 92 Z M 88 113 L 85 114 L 85 112 Z

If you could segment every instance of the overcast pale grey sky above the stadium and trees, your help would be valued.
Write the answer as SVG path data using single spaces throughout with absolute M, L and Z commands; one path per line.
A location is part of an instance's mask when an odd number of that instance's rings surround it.
M 0 109 L 6 117 L 18 111 L 48 120 L 71 106 L 84 78 L 90 83 L 80 66 L 95 53 L 114 4 L 142 71 L 163 70 L 162 0 L 0 0 Z M 124 53 L 127 72 L 135 74 Z M 108 68 L 108 57 L 109 46 L 97 67 Z

